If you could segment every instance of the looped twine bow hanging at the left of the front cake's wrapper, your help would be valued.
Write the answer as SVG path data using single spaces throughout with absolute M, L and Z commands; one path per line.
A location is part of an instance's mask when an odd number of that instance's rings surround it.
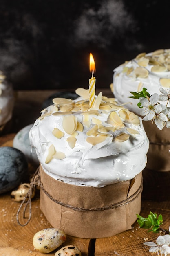
M 22 203 L 20 204 L 20 207 L 19 207 L 19 209 L 18 209 L 18 211 L 17 211 L 17 216 L 16 216 L 16 218 L 17 218 L 17 223 L 18 223 L 18 225 L 20 225 L 20 226 L 22 226 L 22 227 L 26 226 L 26 225 L 29 223 L 29 221 L 31 220 L 31 198 L 32 198 L 33 191 L 34 191 L 34 189 L 35 189 L 36 186 L 40 186 L 40 168 L 39 168 L 39 167 L 38 167 L 37 170 L 35 171 L 35 173 L 34 173 L 34 175 L 33 175 L 33 179 L 32 179 L 32 181 L 31 181 L 31 183 L 30 183 L 29 191 L 28 191 L 27 194 L 25 195 L 25 197 L 24 197 L 24 199 L 23 199 Z M 28 200 L 27 200 L 27 198 L 28 198 Z M 26 201 L 26 200 L 27 200 L 27 201 Z M 21 209 L 22 209 L 22 207 L 23 207 L 23 204 L 24 204 L 25 202 L 26 202 L 26 205 L 25 205 L 24 210 L 23 210 L 23 218 L 24 218 L 24 219 L 26 218 L 26 217 L 25 217 L 25 212 L 26 212 L 26 208 L 27 208 L 28 205 L 29 205 L 29 218 L 28 218 L 28 220 L 27 220 L 26 223 L 21 224 L 20 221 L 19 221 L 19 214 L 20 214 L 20 211 L 21 211 Z

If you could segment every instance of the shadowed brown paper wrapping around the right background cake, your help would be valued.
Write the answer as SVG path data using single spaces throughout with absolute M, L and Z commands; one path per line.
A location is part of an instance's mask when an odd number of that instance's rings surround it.
M 152 121 L 143 121 L 150 146 L 146 168 L 155 171 L 170 171 L 170 128 L 159 130 Z

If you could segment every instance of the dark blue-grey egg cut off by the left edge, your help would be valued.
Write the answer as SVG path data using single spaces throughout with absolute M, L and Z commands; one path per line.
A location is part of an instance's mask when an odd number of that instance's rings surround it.
M 25 155 L 12 147 L 0 148 L 0 194 L 13 190 L 25 181 L 28 163 Z

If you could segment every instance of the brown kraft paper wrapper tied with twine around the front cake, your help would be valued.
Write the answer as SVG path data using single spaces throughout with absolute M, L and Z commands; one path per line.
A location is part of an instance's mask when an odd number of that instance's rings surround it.
M 50 224 L 79 238 L 102 238 L 131 229 L 141 210 L 142 173 L 134 179 L 103 188 L 74 186 L 47 175 L 40 164 L 42 186 L 53 198 L 73 207 L 101 208 L 121 202 L 122 206 L 99 211 L 75 211 L 53 202 L 40 189 L 40 209 Z M 127 203 L 127 198 L 129 202 Z M 122 202 L 126 200 L 125 202 Z

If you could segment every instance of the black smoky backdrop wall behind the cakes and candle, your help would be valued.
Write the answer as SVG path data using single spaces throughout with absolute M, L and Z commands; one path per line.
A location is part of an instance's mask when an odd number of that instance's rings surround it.
M 169 0 L 0 0 L 0 70 L 14 89 L 96 87 L 140 52 L 170 48 Z

